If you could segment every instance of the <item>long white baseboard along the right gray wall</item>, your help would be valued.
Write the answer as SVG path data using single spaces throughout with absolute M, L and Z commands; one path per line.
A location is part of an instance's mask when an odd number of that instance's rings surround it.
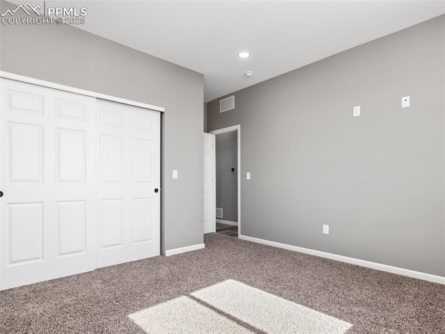
M 439 284 L 445 285 L 445 277 L 442 277 L 442 276 L 426 274 L 423 272 L 415 272 L 414 270 L 410 270 L 410 269 L 392 267 L 390 265 L 382 265 L 381 263 L 370 262 L 370 261 L 366 261 L 366 260 L 359 260 L 357 258 L 348 258 L 348 256 L 341 256 L 341 255 L 337 255 L 337 254 L 326 253 L 324 251 L 314 251 L 314 249 L 307 249 L 307 248 L 292 246 L 290 244 L 282 244 L 280 242 L 258 239 L 257 237 L 248 237 L 246 235 L 239 235 L 239 239 L 247 240 L 247 241 L 251 241 L 251 242 L 257 242 L 259 244 L 267 244 L 268 246 L 287 249 L 289 251 L 298 251 L 300 253 L 305 253 L 305 254 L 314 255 L 314 256 L 320 256 L 321 258 L 329 258 L 331 260 L 337 260 L 337 261 L 341 261 L 341 262 L 350 263 L 351 265 L 359 265 L 362 267 L 381 270 L 382 272 L 390 272 L 392 274 L 398 274 L 398 275 L 408 276 L 408 277 L 412 277 L 412 278 L 419 278 L 424 281 L 429 281 L 432 283 L 439 283 Z

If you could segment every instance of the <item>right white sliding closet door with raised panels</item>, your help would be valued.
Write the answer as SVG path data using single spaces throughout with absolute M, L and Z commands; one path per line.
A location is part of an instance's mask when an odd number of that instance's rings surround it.
M 160 252 L 160 114 L 97 103 L 98 267 Z

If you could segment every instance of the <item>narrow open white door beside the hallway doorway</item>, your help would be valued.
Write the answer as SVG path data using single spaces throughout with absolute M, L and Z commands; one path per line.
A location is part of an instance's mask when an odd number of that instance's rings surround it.
M 216 232 L 215 135 L 204 133 L 204 234 Z

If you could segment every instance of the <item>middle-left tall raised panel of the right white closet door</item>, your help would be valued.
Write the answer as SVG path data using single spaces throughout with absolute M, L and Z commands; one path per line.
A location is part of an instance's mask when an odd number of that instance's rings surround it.
M 122 182 L 123 140 L 124 138 L 115 135 L 101 135 L 101 181 Z

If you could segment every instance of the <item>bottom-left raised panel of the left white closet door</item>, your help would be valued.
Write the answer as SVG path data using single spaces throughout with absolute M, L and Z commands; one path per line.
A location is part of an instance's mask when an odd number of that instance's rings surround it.
M 8 205 L 9 264 L 43 260 L 43 203 Z

